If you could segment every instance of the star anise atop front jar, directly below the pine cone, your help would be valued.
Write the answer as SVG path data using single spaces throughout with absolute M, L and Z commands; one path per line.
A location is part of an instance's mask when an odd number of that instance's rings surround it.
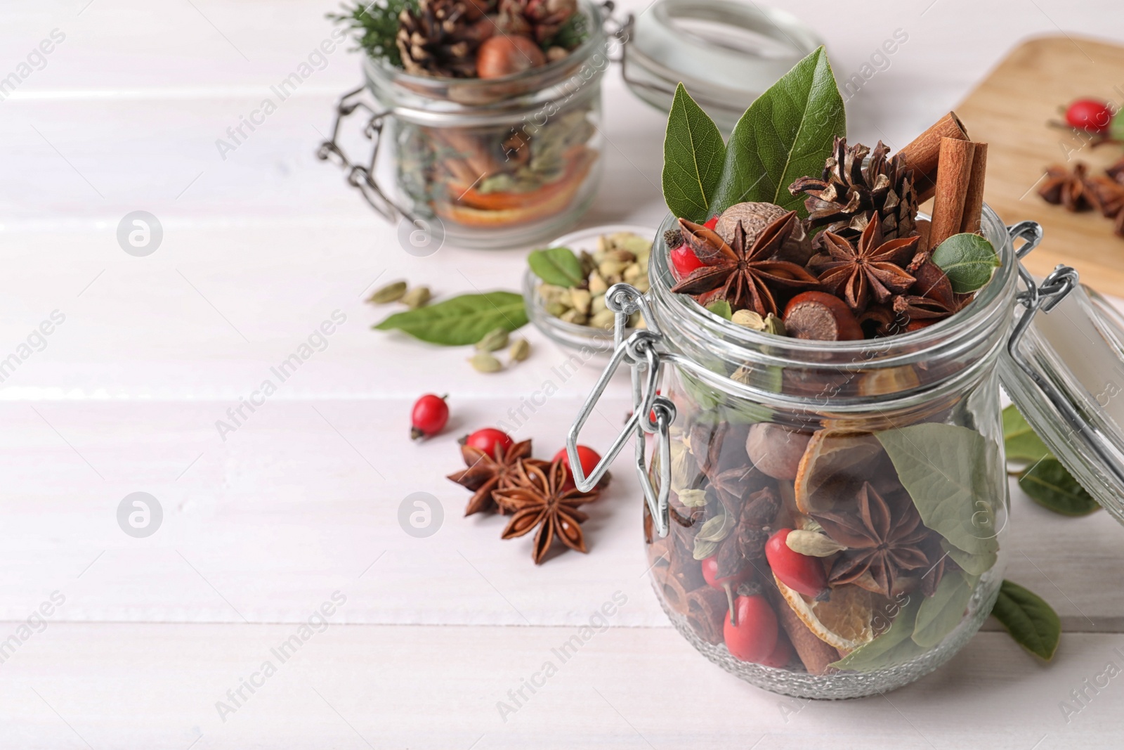
M 855 313 L 867 308 L 871 297 L 879 304 L 914 284 L 903 265 L 917 249 L 917 235 L 882 242 L 882 228 L 871 222 L 859 236 L 858 247 L 834 232 L 824 232 L 826 252 L 808 262 L 819 274 L 824 289 L 840 297 Z

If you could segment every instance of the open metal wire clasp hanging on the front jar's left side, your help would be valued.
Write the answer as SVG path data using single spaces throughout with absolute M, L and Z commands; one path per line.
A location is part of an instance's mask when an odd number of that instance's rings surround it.
M 617 454 L 628 442 L 631 436 L 636 439 L 636 473 L 640 478 L 640 486 L 644 490 L 644 500 L 652 514 L 652 522 L 656 534 L 668 535 L 668 495 L 671 490 L 671 441 L 668 431 L 676 418 L 676 406 L 671 399 L 659 396 L 656 390 L 660 385 L 662 355 L 658 345 L 663 340 L 659 327 L 655 325 L 653 316 L 650 314 L 647 300 L 638 289 L 626 283 L 614 284 L 605 295 L 605 304 L 610 310 L 616 313 L 616 327 L 614 329 L 614 342 L 616 347 L 613 358 L 598 378 L 593 390 L 586 398 L 581 410 L 570 426 L 566 434 L 565 448 L 573 472 L 573 480 L 582 491 L 589 491 L 597 486 L 601 477 L 608 470 Z M 634 332 L 627 338 L 624 337 L 625 327 L 628 324 L 628 316 L 641 311 L 649 325 L 647 329 Z M 601 398 L 609 381 L 616 373 L 617 368 L 623 362 L 632 367 L 632 391 L 633 413 L 625 423 L 620 434 L 613 441 L 613 445 L 606 452 L 589 476 L 584 476 L 581 469 L 581 461 L 578 458 L 578 434 L 584 426 L 589 415 L 593 413 L 597 401 Z M 652 417 L 655 417 L 654 421 Z M 659 488 L 652 486 L 649 476 L 647 463 L 644 459 L 644 433 L 656 435 L 656 452 L 659 455 L 660 482 Z

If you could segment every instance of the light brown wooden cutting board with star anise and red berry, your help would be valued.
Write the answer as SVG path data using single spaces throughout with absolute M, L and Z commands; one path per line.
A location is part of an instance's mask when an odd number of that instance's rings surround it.
M 1072 265 L 1081 281 L 1124 297 L 1124 238 L 1098 211 L 1072 214 L 1039 197 L 1045 168 L 1072 166 L 1090 173 L 1124 156 L 1124 146 L 1091 147 L 1071 129 L 1050 127 L 1058 111 L 1081 98 L 1124 103 L 1124 47 L 1078 37 L 1042 37 L 1016 47 L 957 107 L 972 141 L 988 143 L 985 200 L 1007 224 L 1034 219 L 1045 232 L 1025 261 L 1035 275 L 1058 263 Z M 1124 116 L 1124 115 L 1122 115 Z M 1067 161 L 1067 159 L 1069 161 Z

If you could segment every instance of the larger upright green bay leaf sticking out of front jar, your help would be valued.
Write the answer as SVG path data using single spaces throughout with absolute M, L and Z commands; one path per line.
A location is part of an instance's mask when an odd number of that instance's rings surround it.
M 819 47 L 758 97 L 734 126 L 710 213 L 752 200 L 807 216 L 804 196 L 792 196 L 788 186 L 822 173 L 835 136 L 845 135 L 843 98 Z

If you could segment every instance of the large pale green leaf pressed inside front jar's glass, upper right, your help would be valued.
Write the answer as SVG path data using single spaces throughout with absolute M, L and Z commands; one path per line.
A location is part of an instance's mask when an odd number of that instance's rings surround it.
M 971 554 L 999 549 L 996 445 L 975 430 L 917 424 L 877 433 L 925 525 Z

